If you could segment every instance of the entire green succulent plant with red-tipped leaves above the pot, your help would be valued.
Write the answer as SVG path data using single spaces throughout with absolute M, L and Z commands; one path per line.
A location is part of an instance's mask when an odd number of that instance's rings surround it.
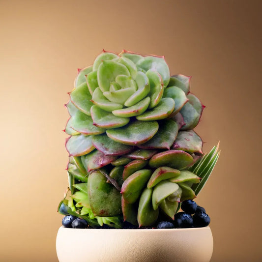
M 70 196 L 62 214 L 121 228 L 174 220 L 180 202 L 200 192 L 218 159 L 203 156 L 193 131 L 204 106 L 190 77 L 170 77 L 164 57 L 100 54 L 79 70 L 66 108 Z M 68 192 L 67 192 L 68 193 Z

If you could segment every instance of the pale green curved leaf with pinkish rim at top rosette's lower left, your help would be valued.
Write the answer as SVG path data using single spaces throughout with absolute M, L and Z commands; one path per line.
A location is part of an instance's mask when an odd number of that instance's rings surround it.
M 70 127 L 76 130 L 77 132 L 84 135 L 99 135 L 106 132 L 105 129 L 96 127 L 93 125 L 93 120 L 91 116 L 78 111 L 74 116 L 72 116 Z

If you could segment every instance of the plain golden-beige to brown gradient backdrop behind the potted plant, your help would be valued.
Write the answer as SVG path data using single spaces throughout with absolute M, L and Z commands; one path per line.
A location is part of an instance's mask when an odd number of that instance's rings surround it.
M 193 76 L 197 132 L 221 157 L 197 198 L 213 262 L 261 261 L 261 8 L 254 0 L 0 0 L 0 260 L 57 261 L 76 69 L 102 48 L 165 55 Z M 76 250 L 77 252 L 77 250 Z

